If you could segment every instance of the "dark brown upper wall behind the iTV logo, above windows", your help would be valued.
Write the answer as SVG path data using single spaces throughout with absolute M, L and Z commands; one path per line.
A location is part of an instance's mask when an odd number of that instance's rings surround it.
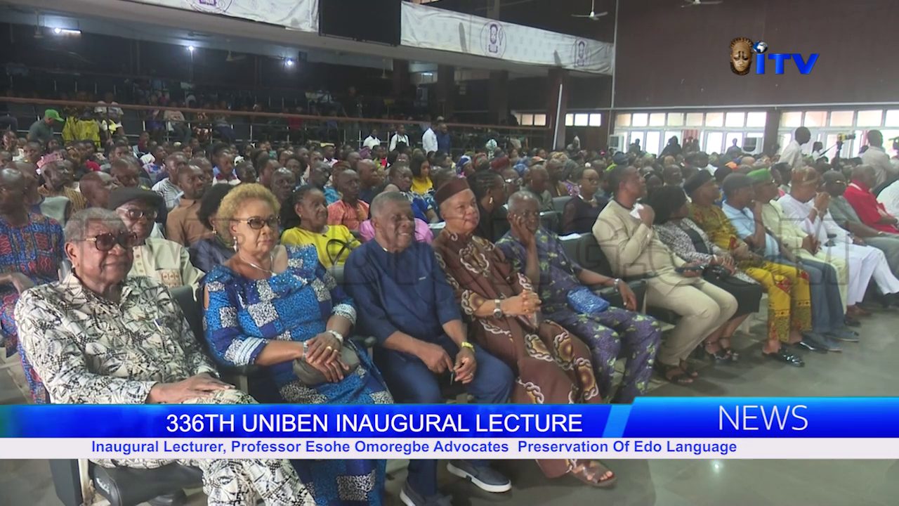
M 899 98 L 895 0 L 675 0 L 620 3 L 616 108 L 677 105 L 892 102 Z M 820 53 L 812 74 L 734 75 L 734 37 L 771 52 Z

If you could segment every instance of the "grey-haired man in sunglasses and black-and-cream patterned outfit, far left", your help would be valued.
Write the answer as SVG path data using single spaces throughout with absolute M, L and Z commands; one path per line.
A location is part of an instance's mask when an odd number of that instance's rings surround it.
M 28 361 L 62 404 L 250 404 L 216 379 L 172 295 L 147 277 L 127 277 L 134 236 L 115 212 L 88 209 L 66 225 L 74 272 L 22 294 L 16 321 Z M 77 275 L 75 274 L 77 273 Z M 114 313 L 114 314 L 113 314 Z M 86 315 L 86 316 L 85 316 Z M 27 358 L 26 358 L 27 357 Z M 105 467 L 200 467 L 209 504 L 311 505 L 286 460 L 121 459 Z

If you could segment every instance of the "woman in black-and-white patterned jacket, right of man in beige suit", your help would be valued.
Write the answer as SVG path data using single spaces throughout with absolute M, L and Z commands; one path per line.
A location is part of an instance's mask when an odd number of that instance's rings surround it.
M 706 354 L 715 360 L 736 361 L 737 353 L 731 349 L 730 340 L 737 327 L 753 312 L 759 312 L 762 288 L 749 275 L 736 268 L 734 256 L 713 244 L 699 225 L 688 214 L 687 194 L 680 186 L 663 186 L 649 196 L 649 205 L 655 211 L 654 227 L 658 238 L 680 258 L 688 262 L 699 261 L 703 265 L 718 267 L 703 274 L 703 278 L 734 295 L 737 310 L 733 318 L 703 342 Z M 750 258 L 752 253 L 741 248 L 734 251 L 740 258 Z M 773 316 L 773 312 L 771 315 Z

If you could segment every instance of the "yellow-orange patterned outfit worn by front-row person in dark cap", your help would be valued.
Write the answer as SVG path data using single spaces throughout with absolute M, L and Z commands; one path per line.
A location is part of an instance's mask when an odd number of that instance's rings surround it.
M 725 212 L 716 205 L 690 203 L 690 218 L 719 248 L 734 251 L 743 244 Z M 812 330 L 812 292 L 805 271 L 767 260 L 742 260 L 737 264 L 768 292 L 768 339 L 787 342 L 790 330 Z

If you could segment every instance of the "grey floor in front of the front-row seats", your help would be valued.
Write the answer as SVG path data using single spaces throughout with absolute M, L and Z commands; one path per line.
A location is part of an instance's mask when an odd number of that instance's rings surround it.
M 652 395 L 895 395 L 899 364 L 899 312 L 878 312 L 862 328 L 862 342 L 845 344 L 841 354 L 804 353 L 806 367 L 763 360 L 759 345 L 743 337 L 740 363 L 703 370 L 706 378 L 690 387 L 664 384 Z M 0 374 L 0 402 L 17 393 L 9 375 Z M 2 441 L 0 441 L 2 445 Z M 2 452 L 0 446 L 0 452 Z M 808 460 L 657 460 L 612 461 L 619 475 L 611 490 L 592 490 L 571 478 L 549 481 L 532 462 L 503 461 L 497 466 L 512 477 L 504 494 L 480 492 L 449 474 L 444 490 L 456 506 L 488 504 L 602 506 L 875 506 L 899 503 L 899 464 L 895 461 Z M 388 503 L 403 471 L 388 483 Z M 201 494 L 191 504 L 203 504 Z M 0 460 L 0 506 L 58 506 L 45 461 Z

